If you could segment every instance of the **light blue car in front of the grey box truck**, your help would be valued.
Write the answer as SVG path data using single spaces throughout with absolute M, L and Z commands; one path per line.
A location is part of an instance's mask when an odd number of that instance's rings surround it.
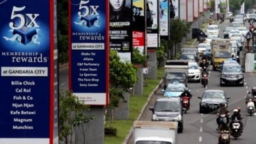
M 166 89 L 162 89 L 161 92 L 163 93 L 163 97 L 179 97 L 186 89 L 186 85 L 179 83 L 177 80 L 173 83 L 167 84 Z M 189 91 L 191 91 L 189 89 Z

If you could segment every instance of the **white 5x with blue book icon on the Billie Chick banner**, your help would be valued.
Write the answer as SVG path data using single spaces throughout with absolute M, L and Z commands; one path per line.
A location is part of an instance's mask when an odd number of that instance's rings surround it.
M 22 14 L 22 11 L 25 10 L 26 6 L 16 7 L 13 6 L 12 13 L 10 15 L 11 21 L 9 26 L 11 28 L 11 32 L 13 33 L 13 37 L 3 37 L 6 41 L 11 42 L 20 42 L 24 45 L 33 42 L 34 44 L 40 44 L 37 42 L 38 39 L 38 31 L 40 30 L 38 24 L 35 19 L 39 16 L 39 14 Z M 20 13 L 19 13 L 20 12 Z

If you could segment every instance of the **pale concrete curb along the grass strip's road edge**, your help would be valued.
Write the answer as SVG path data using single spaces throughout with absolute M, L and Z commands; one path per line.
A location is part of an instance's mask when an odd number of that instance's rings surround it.
M 145 105 L 141 109 L 141 113 L 138 115 L 138 118 L 136 120 L 140 120 L 141 119 L 141 116 L 142 116 L 143 112 L 145 111 L 145 108 L 147 107 L 148 103 L 152 99 L 152 96 L 154 96 L 154 94 L 157 92 L 157 89 L 159 89 L 159 87 L 161 87 L 162 83 L 163 83 L 163 80 L 161 80 L 159 82 L 159 84 L 157 84 L 157 87 L 155 87 L 154 90 L 152 91 L 152 93 L 150 93 L 150 95 L 147 97 L 147 102 L 145 103 Z M 131 126 L 131 129 L 129 129 L 129 133 L 125 137 L 125 140 L 122 142 L 122 144 L 129 144 L 129 143 L 131 143 L 131 137 L 132 137 L 133 131 L 134 131 L 133 130 L 133 126 Z

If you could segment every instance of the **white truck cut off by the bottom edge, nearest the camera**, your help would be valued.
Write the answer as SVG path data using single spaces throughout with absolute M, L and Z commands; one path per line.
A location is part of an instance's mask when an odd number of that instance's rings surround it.
M 177 122 L 134 121 L 133 144 L 177 144 Z

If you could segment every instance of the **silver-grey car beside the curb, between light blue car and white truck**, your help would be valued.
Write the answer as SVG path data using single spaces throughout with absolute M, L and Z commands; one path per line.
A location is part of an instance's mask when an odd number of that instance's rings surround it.
M 149 108 L 152 111 L 152 121 L 176 121 L 178 123 L 178 132 L 183 132 L 183 112 L 180 98 L 157 98 L 154 107 Z

